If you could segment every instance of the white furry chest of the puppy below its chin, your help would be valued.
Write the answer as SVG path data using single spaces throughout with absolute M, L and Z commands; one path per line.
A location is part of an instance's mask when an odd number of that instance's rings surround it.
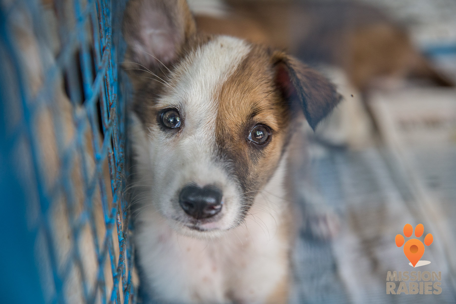
M 262 214 L 263 213 L 263 214 Z M 140 263 L 153 292 L 182 303 L 254 303 L 287 269 L 288 242 L 270 212 L 216 240 L 182 237 L 166 226 L 140 246 Z

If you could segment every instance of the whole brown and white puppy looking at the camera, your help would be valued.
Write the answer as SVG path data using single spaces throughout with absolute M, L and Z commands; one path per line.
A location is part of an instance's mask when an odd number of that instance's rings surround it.
M 287 303 L 290 142 L 339 101 L 284 52 L 197 31 L 185 0 L 130 0 L 131 199 L 142 286 L 163 303 Z

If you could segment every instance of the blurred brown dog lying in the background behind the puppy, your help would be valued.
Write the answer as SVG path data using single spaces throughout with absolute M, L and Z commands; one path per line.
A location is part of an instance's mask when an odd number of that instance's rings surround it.
M 453 85 L 416 50 L 403 26 L 360 2 L 191 0 L 190 5 L 201 31 L 286 49 L 311 65 L 340 67 L 361 91 L 386 77 Z

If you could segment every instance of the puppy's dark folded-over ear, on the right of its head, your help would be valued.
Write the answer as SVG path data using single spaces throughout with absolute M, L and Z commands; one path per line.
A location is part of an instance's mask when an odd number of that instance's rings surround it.
M 273 55 L 275 82 L 291 104 L 299 104 L 307 122 L 315 130 L 339 103 L 341 96 L 320 73 L 283 52 Z

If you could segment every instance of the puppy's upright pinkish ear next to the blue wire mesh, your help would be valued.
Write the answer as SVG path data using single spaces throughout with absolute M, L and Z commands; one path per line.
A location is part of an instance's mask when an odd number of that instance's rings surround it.
M 122 32 L 128 44 L 125 67 L 155 69 L 178 58 L 196 25 L 186 0 L 130 0 Z

